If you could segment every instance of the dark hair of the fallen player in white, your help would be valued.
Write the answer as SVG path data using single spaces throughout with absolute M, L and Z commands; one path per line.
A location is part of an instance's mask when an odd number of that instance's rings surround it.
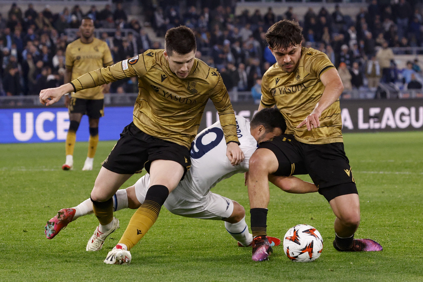
M 255 128 L 259 125 L 263 125 L 266 132 L 271 132 L 274 128 L 280 128 L 282 132 L 287 130 L 287 122 L 276 108 L 264 108 L 256 112 L 250 121 L 250 126 Z

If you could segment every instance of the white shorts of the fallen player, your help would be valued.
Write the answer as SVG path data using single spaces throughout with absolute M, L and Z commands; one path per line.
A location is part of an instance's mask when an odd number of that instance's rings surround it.
M 135 195 L 140 203 L 146 199 L 147 190 L 150 187 L 150 175 L 146 174 L 135 183 Z M 169 194 L 164 206 L 172 214 L 204 220 L 223 220 L 232 215 L 234 203 L 231 199 L 208 192 L 201 198 L 190 195 L 181 186 L 177 186 Z

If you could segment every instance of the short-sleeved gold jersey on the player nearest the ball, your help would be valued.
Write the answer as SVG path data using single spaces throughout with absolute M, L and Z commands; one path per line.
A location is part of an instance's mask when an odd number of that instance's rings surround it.
M 297 128 L 313 111 L 325 89 L 320 76 L 334 67 L 323 52 L 302 47 L 298 68 L 286 73 L 275 63 L 263 76 L 260 104 L 269 108 L 274 105 L 287 121 L 288 134 L 306 144 L 329 144 L 342 141 L 342 120 L 339 99 L 322 112 L 320 127 L 307 131 L 307 126 Z

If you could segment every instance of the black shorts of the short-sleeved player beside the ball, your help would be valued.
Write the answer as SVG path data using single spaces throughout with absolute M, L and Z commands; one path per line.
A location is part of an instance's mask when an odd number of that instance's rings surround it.
M 294 135 L 283 134 L 260 143 L 259 148 L 275 154 L 279 162 L 275 175 L 309 174 L 327 201 L 340 195 L 358 194 L 343 143 L 310 145 L 298 142 Z

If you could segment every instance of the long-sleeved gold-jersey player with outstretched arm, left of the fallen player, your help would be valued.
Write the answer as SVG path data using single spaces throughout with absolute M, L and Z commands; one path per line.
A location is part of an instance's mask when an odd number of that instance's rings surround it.
M 90 238 L 87 251 L 100 250 L 104 239 L 119 228 L 119 221 L 113 218 L 112 196 L 143 168 L 150 173 L 150 188 L 111 255 L 122 249 L 130 250 L 153 226 L 168 194 L 190 167 L 189 148 L 208 99 L 219 112 L 227 157 L 232 165 L 244 160 L 228 91 L 217 70 L 195 58 L 195 52 L 192 30 L 185 26 L 172 28 L 166 33 L 164 50 L 147 50 L 40 92 L 40 102 L 48 106 L 70 91 L 138 77 L 133 122 L 123 129 L 103 162 L 91 192 L 100 225 Z M 116 261 L 122 262 L 124 258 Z

